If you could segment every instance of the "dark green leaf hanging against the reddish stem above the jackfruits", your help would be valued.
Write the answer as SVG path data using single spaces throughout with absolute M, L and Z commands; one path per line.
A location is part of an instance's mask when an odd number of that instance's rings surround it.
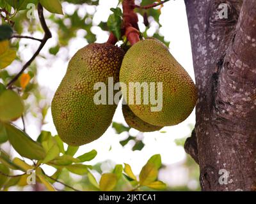
M 119 15 L 116 15 L 115 13 L 109 15 L 108 18 L 108 28 L 109 31 L 111 31 L 118 40 L 122 37 L 121 33 L 121 27 L 122 27 L 122 18 Z

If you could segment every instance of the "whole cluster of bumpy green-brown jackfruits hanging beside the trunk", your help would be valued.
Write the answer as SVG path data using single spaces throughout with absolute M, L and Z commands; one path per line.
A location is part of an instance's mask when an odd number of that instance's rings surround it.
M 108 92 L 110 77 L 114 83 L 127 85 L 122 92 L 127 101 L 122 107 L 125 121 L 139 131 L 157 131 L 163 126 L 179 124 L 189 116 L 196 103 L 193 80 L 160 41 L 139 41 L 126 54 L 114 45 L 93 43 L 72 57 L 52 100 L 54 125 L 64 142 L 83 145 L 96 140 L 108 129 L 116 105 L 95 104 L 97 90 L 94 87 L 97 82 L 103 82 Z M 152 112 L 152 104 L 143 103 L 143 92 L 142 103 L 130 104 L 129 91 L 136 89 L 130 90 L 129 82 L 160 82 L 163 88 L 161 110 Z M 148 98 L 152 97 L 149 92 L 147 94 Z M 136 92 L 133 96 L 136 99 Z

